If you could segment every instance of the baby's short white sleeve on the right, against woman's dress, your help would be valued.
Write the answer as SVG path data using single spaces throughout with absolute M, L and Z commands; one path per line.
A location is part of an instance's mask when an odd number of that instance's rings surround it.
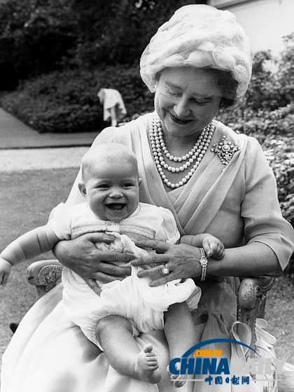
M 155 232 L 154 239 L 165 241 L 169 244 L 176 244 L 180 239 L 180 233 L 176 228 L 176 221 L 174 220 L 172 211 L 163 207 L 158 207 L 158 212 L 158 229 Z

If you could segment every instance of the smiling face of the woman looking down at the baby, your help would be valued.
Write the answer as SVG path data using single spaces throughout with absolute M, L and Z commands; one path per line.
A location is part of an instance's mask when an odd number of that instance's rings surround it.
M 216 116 L 221 91 L 213 75 L 192 67 L 166 68 L 155 92 L 162 127 L 174 137 L 195 136 Z

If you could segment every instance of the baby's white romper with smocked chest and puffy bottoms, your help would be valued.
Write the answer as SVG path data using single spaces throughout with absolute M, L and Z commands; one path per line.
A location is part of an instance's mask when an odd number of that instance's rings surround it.
M 88 232 L 111 232 L 116 236 L 115 241 L 109 245 L 97 244 L 97 248 L 134 254 L 138 258 L 148 255 L 148 252 L 138 248 L 132 239 L 156 239 L 176 244 L 180 238 L 171 211 L 146 203 L 140 203 L 131 216 L 119 223 L 97 218 L 85 202 L 72 207 L 59 204 L 49 223 L 59 239 L 75 239 Z M 193 279 L 177 279 L 150 287 L 150 278 L 138 278 L 141 269 L 132 266 L 131 275 L 123 281 L 97 281 L 102 288 L 100 296 L 71 269 L 65 267 L 62 272 L 66 316 L 102 350 L 96 329 L 98 321 L 105 316 L 116 314 L 127 318 L 134 336 L 139 336 L 140 332 L 162 330 L 164 312 L 171 304 L 187 301 L 191 311 L 197 309 L 201 290 L 195 286 Z

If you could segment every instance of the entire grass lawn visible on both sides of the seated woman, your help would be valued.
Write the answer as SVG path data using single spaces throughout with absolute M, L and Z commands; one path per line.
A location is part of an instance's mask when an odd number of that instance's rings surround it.
M 52 207 L 66 200 L 78 169 L 50 169 L 0 175 L 0 249 L 22 233 L 46 223 Z M 38 258 L 51 258 L 47 254 Z M 31 262 L 31 261 L 30 261 Z M 30 262 L 13 269 L 6 288 L 0 287 L 0 356 L 12 332 L 10 321 L 20 321 L 34 303 L 34 288 L 25 280 Z M 277 356 L 294 364 L 293 286 L 279 278 L 267 297 L 267 331 L 276 341 Z

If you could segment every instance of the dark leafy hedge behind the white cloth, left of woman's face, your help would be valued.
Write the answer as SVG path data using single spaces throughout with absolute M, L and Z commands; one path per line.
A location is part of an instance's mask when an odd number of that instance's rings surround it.
M 98 132 L 109 125 L 97 92 L 114 88 L 123 96 L 128 116 L 153 109 L 136 66 L 100 71 L 67 70 L 27 80 L 15 92 L 2 94 L 0 104 L 38 132 Z

